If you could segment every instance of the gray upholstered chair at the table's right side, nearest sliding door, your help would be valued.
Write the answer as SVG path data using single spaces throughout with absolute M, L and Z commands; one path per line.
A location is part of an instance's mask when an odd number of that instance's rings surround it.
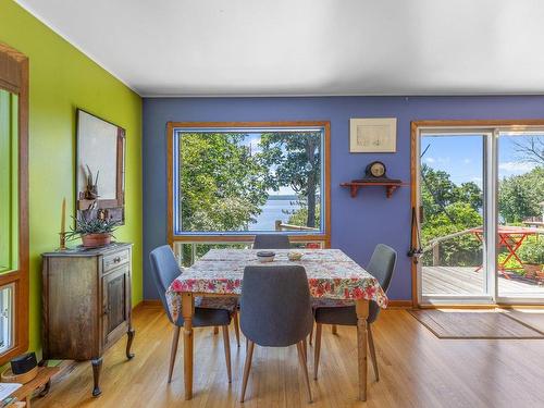
M 391 279 L 393 277 L 393 272 L 395 271 L 395 264 L 397 261 L 397 252 L 383 244 L 379 244 L 372 258 L 367 267 L 367 271 L 373 275 L 380 286 L 387 292 Z M 322 304 L 323 305 L 323 304 Z M 368 323 L 368 341 L 370 349 L 370 358 L 372 360 L 372 366 L 374 368 L 374 374 L 376 381 L 380 381 L 380 373 L 378 371 L 378 360 L 375 356 L 374 338 L 372 336 L 372 323 L 378 319 L 378 313 L 380 312 L 380 307 L 376 302 L 370 301 L 369 305 L 369 317 L 367 319 Z M 319 368 L 319 357 L 321 351 L 321 325 L 322 324 L 338 324 L 338 325 L 357 325 L 357 313 L 355 311 L 355 306 L 345 306 L 345 304 L 330 302 L 330 306 L 319 306 L 314 305 L 314 318 L 316 318 L 316 349 L 313 356 L 313 379 L 318 379 L 318 368 Z

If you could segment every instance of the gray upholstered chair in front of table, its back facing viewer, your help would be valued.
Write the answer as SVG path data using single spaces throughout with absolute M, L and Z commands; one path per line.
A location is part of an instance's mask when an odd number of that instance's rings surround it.
M 299 265 L 246 267 L 240 297 L 240 329 L 248 338 L 240 401 L 244 401 L 254 346 L 297 345 L 298 362 L 311 401 L 306 337 L 313 323 L 306 270 Z

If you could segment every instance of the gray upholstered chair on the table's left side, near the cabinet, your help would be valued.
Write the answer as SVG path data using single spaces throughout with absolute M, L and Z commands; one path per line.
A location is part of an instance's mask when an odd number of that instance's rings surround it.
M 149 255 L 149 258 L 151 261 L 151 275 L 153 277 L 157 290 L 159 292 L 162 306 L 164 307 L 170 322 L 175 325 L 174 336 L 172 339 L 172 350 L 170 353 L 170 369 L 168 380 L 168 382 L 170 383 L 172 381 L 172 372 L 174 371 L 180 332 L 183 327 L 183 316 L 182 313 L 180 313 L 180 317 L 176 321 L 172 319 L 172 314 L 170 314 L 170 310 L 166 304 L 166 290 L 170 287 L 171 283 L 177 276 L 180 276 L 182 271 L 180 270 L 174 254 L 172 252 L 172 248 L 170 248 L 170 246 L 168 245 L 163 245 L 153 249 Z M 207 299 L 212 300 L 210 302 Z M 232 381 L 228 324 L 231 323 L 231 318 L 236 312 L 236 298 L 197 297 L 195 299 L 195 316 L 193 318 L 193 327 L 222 326 L 228 382 Z

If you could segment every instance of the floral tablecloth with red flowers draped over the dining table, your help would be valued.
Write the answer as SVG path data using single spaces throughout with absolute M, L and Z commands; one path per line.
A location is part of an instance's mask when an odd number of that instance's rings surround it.
M 289 261 L 288 249 L 275 249 L 274 262 L 261 263 L 256 249 L 212 249 L 172 282 L 166 299 L 173 319 L 181 312 L 181 293 L 221 294 L 239 296 L 244 268 L 247 265 L 305 267 L 310 295 L 314 298 L 374 300 L 387 306 L 387 297 L 378 280 L 339 249 L 300 249 L 300 261 Z

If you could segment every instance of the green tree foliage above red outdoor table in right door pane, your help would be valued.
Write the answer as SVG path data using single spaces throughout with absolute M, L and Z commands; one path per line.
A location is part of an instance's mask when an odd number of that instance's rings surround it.
M 529 217 L 542 214 L 539 205 L 544 198 L 544 168 L 529 173 L 505 177 L 498 189 L 498 209 L 506 223 L 520 223 Z

